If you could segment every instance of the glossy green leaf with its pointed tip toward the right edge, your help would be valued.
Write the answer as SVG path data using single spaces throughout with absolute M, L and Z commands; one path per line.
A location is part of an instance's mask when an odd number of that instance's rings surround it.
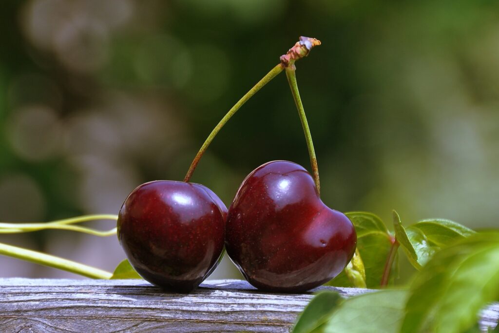
M 417 269 L 421 269 L 442 247 L 476 233 L 464 225 L 443 219 L 423 220 L 408 226 L 405 231 L 417 253 L 416 261 L 409 257 Z

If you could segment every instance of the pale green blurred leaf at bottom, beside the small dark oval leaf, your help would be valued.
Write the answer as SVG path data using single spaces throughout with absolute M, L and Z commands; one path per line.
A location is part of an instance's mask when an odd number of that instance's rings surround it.
M 386 289 L 351 297 L 314 332 L 398 333 L 407 295 L 407 290 Z

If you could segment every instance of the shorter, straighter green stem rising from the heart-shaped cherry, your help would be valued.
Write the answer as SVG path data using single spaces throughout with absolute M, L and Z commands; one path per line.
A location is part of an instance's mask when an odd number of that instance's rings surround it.
M 296 104 L 296 108 L 298 109 L 298 115 L 300 116 L 303 132 L 305 133 L 308 155 L 310 156 L 310 164 L 312 165 L 312 175 L 315 181 L 317 194 L 320 196 L 319 166 L 317 165 L 317 158 L 315 157 L 315 150 L 313 148 L 312 135 L 310 134 L 310 128 L 308 127 L 307 117 L 305 115 L 305 110 L 303 109 L 303 104 L 301 103 L 298 85 L 296 84 L 295 71 L 296 67 L 293 63 L 290 63 L 289 66 L 286 67 L 286 77 L 287 82 L 289 82 L 289 88 L 291 88 L 291 93 L 293 94 L 294 103 Z

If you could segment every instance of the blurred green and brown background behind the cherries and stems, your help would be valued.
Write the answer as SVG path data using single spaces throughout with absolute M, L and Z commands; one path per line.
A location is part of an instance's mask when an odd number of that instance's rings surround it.
M 0 11 L 0 221 L 117 214 L 128 193 L 181 180 L 226 111 L 299 35 L 297 63 L 322 199 L 391 222 L 498 226 L 499 2 L 30 0 Z M 285 75 L 221 131 L 192 181 L 229 206 L 244 177 L 307 169 Z M 110 228 L 112 222 L 97 223 Z M 0 241 L 111 270 L 115 237 Z M 71 276 L 0 257 L 0 276 Z M 228 260 L 212 278 L 237 276 Z

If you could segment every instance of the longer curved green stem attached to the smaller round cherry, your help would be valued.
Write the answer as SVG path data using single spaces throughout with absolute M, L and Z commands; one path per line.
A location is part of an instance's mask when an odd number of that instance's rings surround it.
M 278 64 L 270 72 L 268 72 L 256 85 L 254 85 L 253 88 L 250 89 L 248 93 L 243 96 L 238 103 L 236 103 L 229 112 L 220 120 L 220 122 L 215 126 L 215 128 L 212 130 L 210 135 L 205 140 L 205 143 L 201 146 L 201 149 L 198 151 L 196 154 L 196 157 L 194 157 L 194 160 L 191 163 L 191 166 L 189 167 L 189 170 L 187 171 L 187 174 L 184 178 L 184 182 L 188 183 L 191 180 L 192 174 L 194 173 L 194 170 L 196 170 L 196 167 L 198 166 L 199 161 L 201 160 L 201 157 L 203 157 L 203 154 L 205 153 L 206 149 L 208 149 L 208 146 L 210 143 L 212 143 L 213 139 L 215 136 L 218 134 L 218 132 L 224 127 L 224 125 L 229 121 L 229 119 L 238 111 L 258 90 L 260 90 L 263 86 L 265 86 L 267 83 L 270 82 L 274 77 L 277 76 L 284 67 L 281 64 Z

